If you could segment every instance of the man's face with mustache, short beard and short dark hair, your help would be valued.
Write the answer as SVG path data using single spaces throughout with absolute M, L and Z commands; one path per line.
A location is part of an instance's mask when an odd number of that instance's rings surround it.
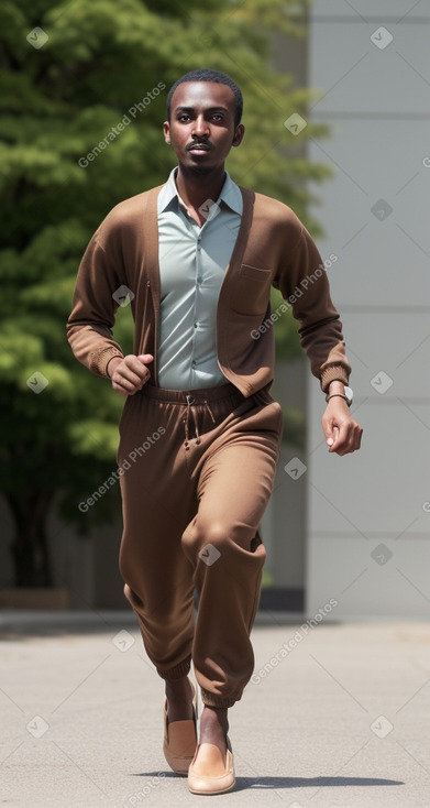
M 172 98 L 164 139 L 187 168 L 222 165 L 231 146 L 239 146 L 244 127 L 234 125 L 233 90 L 213 81 L 184 81 Z

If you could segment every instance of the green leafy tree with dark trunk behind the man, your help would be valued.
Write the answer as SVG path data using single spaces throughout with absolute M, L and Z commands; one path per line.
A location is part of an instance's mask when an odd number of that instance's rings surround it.
M 208 66 L 238 80 L 247 133 L 231 174 L 289 204 L 318 232 L 305 181 L 328 170 L 300 150 L 324 130 L 309 124 L 295 138 L 284 127 L 293 112 L 306 118 L 313 95 L 271 67 L 272 34 L 302 35 L 297 8 L 291 0 L 0 7 L 0 485 L 16 528 L 19 586 L 52 583 L 46 517 L 58 492 L 62 513 L 82 531 L 119 505 L 117 485 L 90 511 L 78 507 L 115 468 L 123 400 L 75 360 L 65 323 L 80 256 L 101 219 L 175 164 L 162 122 L 181 74 Z M 289 315 L 280 328 L 280 349 L 296 356 Z M 115 337 L 129 351 L 131 332 L 130 312 L 119 309 Z M 48 382 L 40 393 L 35 373 Z

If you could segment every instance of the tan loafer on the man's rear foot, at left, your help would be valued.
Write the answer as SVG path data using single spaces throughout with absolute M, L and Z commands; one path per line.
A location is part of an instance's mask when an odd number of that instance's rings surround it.
M 168 721 L 167 699 L 164 702 L 164 756 L 175 774 L 188 773 L 197 746 L 197 697 L 192 687 L 192 719 Z

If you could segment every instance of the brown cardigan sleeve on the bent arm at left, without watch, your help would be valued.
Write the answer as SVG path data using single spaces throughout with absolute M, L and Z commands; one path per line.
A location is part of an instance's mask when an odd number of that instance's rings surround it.
M 113 357 L 123 358 L 112 328 L 124 286 L 121 239 L 110 216 L 92 236 L 79 265 L 67 339 L 75 357 L 92 373 L 109 378 Z M 117 293 L 117 294 L 115 294 Z M 113 296 L 115 295 L 115 296 Z

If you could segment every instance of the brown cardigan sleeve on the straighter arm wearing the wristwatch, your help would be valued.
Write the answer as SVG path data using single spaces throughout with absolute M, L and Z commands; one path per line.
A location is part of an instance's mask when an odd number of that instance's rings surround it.
M 309 358 L 311 372 L 319 379 L 321 390 L 327 392 L 334 380 L 348 384 L 351 365 L 321 255 L 299 219 L 294 214 L 291 219 L 289 232 L 293 225 L 296 240 L 293 249 L 283 255 L 274 286 L 293 306 L 293 315 L 300 323 L 300 342 Z

